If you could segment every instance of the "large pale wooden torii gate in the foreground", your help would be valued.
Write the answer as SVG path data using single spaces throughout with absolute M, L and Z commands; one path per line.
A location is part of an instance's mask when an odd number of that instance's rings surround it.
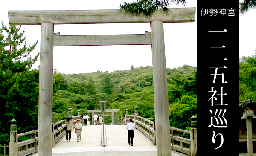
M 163 23 L 194 22 L 195 8 L 172 8 L 169 14 L 131 17 L 119 10 L 8 11 L 10 25 L 41 25 L 38 156 L 52 156 L 53 46 L 152 45 L 157 156 L 171 156 Z M 150 23 L 144 35 L 53 34 L 55 24 Z M 175 30 L 177 31 L 177 30 Z M 182 31 L 182 30 L 181 30 Z

